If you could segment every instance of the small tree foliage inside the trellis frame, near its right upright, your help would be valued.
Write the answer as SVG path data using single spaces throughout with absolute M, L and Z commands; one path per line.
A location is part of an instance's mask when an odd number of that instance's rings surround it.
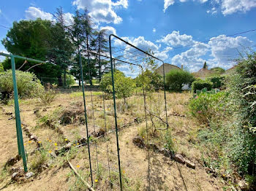
M 156 72 L 146 70 L 135 79 L 137 87 L 143 87 L 146 91 L 154 91 L 163 86 L 162 77 Z

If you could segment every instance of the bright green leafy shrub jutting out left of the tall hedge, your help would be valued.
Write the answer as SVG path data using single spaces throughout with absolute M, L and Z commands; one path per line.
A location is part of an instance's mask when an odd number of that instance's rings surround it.
M 225 109 L 226 102 L 227 93 L 225 92 L 215 94 L 200 93 L 189 102 L 189 112 L 198 121 L 207 123 Z

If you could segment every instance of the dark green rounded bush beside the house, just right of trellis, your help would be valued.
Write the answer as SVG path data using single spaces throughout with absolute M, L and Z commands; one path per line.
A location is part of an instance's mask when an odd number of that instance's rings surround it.
M 181 69 L 173 69 L 166 74 L 166 85 L 174 91 L 181 91 L 183 85 L 191 84 L 194 80 L 192 74 Z

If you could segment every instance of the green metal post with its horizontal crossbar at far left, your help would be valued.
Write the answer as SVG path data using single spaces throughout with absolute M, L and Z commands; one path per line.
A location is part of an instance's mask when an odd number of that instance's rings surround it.
M 45 63 L 45 61 L 39 61 L 33 58 L 26 58 L 19 55 L 11 55 L 5 54 L 0 52 L 0 55 L 5 57 L 11 58 L 12 63 L 12 83 L 13 83 L 13 92 L 14 92 L 14 104 L 15 104 L 15 121 L 16 121 L 16 133 L 17 133 L 17 141 L 18 141 L 18 155 L 21 155 L 23 160 L 23 168 L 26 172 L 28 170 L 27 163 L 26 163 L 26 153 L 23 144 L 23 136 L 22 136 L 22 129 L 21 129 L 21 121 L 20 121 L 20 107 L 18 102 L 18 88 L 17 88 L 17 81 L 16 81 L 16 73 L 15 73 L 15 58 L 23 59 L 26 61 L 32 61 L 36 63 Z

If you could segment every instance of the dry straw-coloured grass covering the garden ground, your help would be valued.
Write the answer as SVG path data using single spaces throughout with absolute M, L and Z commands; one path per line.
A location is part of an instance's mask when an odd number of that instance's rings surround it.
M 86 93 L 90 95 L 90 93 Z M 104 128 L 107 130 L 115 129 L 115 118 L 113 112 L 113 101 L 105 100 L 105 112 L 103 109 L 103 100 L 101 93 L 93 93 L 92 100 L 90 96 L 86 96 L 87 116 L 89 133 L 94 130 Z M 135 136 L 145 135 L 145 112 L 142 96 L 132 96 L 127 99 L 127 104 L 124 104 L 122 99 L 116 101 L 118 128 L 127 123 L 134 122 L 135 118 L 140 120 L 139 123 L 134 123 L 118 132 L 119 146 L 121 154 L 121 172 L 123 174 L 123 183 L 125 190 L 219 190 L 222 184 L 217 179 L 212 179 L 200 165 L 200 151 L 195 145 L 196 135 L 193 131 L 197 128 L 197 124 L 189 117 L 178 117 L 172 114 L 187 115 L 187 102 L 190 98 L 189 93 L 167 93 L 167 120 L 170 125 L 169 130 L 157 130 L 154 132 L 154 125 L 150 118 L 148 120 L 149 132 L 151 131 L 150 141 L 155 142 L 159 147 L 165 146 L 166 136 L 173 141 L 173 149 L 190 160 L 196 163 L 196 170 L 187 168 L 184 165 L 176 164 L 170 158 L 164 157 L 161 154 L 150 152 L 147 157 L 145 149 L 140 149 L 132 144 L 132 138 Z M 165 117 L 165 101 L 163 93 L 153 93 L 147 96 L 147 108 L 155 114 Z M 13 104 L 3 106 L 5 112 L 14 112 Z M 34 110 L 39 112 L 34 114 Z M 80 138 L 86 137 L 86 125 L 83 120 L 75 120 L 79 117 L 83 118 L 83 97 L 82 93 L 70 93 L 57 95 L 56 99 L 49 105 L 44 106 L 37 99 L 29 99 L 20 101 L 21 120 L 26 125 L 29 125 L 29 130 L 38 136 L 39 141 L 42 141 L 45 147 L 45 160 L 39 160 L 42 154 L 29 156 L 29 167 L 31 170 L 40 165 L 50 163 L 50 168 L 42 171 L 34 178 L 33 185 L 31 182 L 26 184 L 11 184 L 5 190 L 48 190 L 47 182 L 54 184 L 51 190 L 84 190 L 85 187 L 69 170 L 65 164 L 64 157 L 53 159 L 50 157 L 50 152 L 66 144 L 65 139 L 69 141 L 77 141 Z M 61 124 L 61 116 L 69 111 L 70 113 L 78 113 L 78 118 L 70 120 L 69 124 Z M 45 117 L 45 118 L 44 118 Z M 70 119 L 72 116 L 70 116 Z M 82 119 L 81 118 L 81 119 Z M 4 145 L 8 147 L 0 147 L 1 155 L 0 168 L 9 157 L 13 157 L 17 152 L 15 143 L 15 121 L 7 120 L 8 116 L 1 114 L 0 116 L 0 133 L 4 135 Z M 42 120 L 44 119 L 44 120 Z M 53 124 L 48 125 L 45 119 L 50 120 Z M 80 118 L 79 118 L 80 119 Z M 153 122 L 159 128 L 164 127 L 164 124 L 153 117 Z M 7 130 L 11 127 L 12 130 Z M 56 130 L 59 128 L 63 133 Z M 29 143 L 29 139 L 24 136 L 27 152 L 31 152 L 35 145 Z M 3 144 L 3 143 L 1 143 Z M 108 150 L 108 152 L 107 152 Z M 73 147 L 70 152 L 71 163 L 78 168 L 84 179 L 90 182 L 89 177 L 89 155 L 86 147 L 75 149 Z M 97 190 L 110 190 L 109 180 L 113 182 L 113 190 L 118 190 L 118 160 L 116 149 L 116 135 L 110 133 L 103 139 L 97 140 L 97 148 L 94 144 L 91 145 L 91 163 L 94 170 L 94 186 Z M 98 160 L 96 160 L 98 159 Z M 109 159 L 109 160 L 108 160 Z M 97 163 L 98 161 L 98 163 Z M 108 164 L 110 163 L 110 169 Z M 21 163 L 18 163 L 21 165 Z M 64 167 L 64 168 L 61 168 Z M 150 169 L 148 174 L 148 168 Z M 110 171 L 109 171 L 110 170 Z M 33 170 L 34 171 L 34 170 Z M 53 176 L 53 177 L 52 177 Z M 150 181 L 148 180 L 150 177 Z M 4 178 L 7 180 L 7 177 Z M 54 181 L 52 180 L 54 178 Z M 59 184 L 61 182 L 61 184 Z M 0 184 L 0 187 L 4 186 Z

